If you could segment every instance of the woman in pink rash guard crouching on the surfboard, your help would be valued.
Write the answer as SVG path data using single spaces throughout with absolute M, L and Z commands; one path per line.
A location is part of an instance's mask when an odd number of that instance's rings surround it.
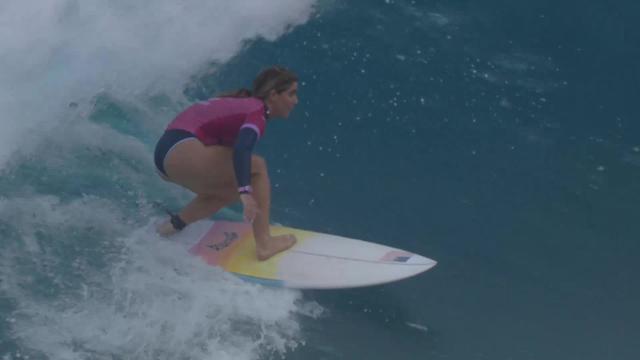
M 253 90 L 191 105 L 166 128 L 155 149 L 163 179 L 196 197 L 158 226 L 169 236 L 240 199 L 245 221 L 253 225 L 257 257 L 266 260 L 296 242 L 293 235 L 271 236 L 271 185 L 265 160 L 252 154 L 267 120 L 286 118 L 298 103 L 298 78 L 282 67 L 262 71 Z

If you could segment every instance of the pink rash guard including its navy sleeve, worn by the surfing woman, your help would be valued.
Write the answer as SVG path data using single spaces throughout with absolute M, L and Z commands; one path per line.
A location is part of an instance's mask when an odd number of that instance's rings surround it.
M 169 125 L 185 130 L 204 145 L 233 147 L 233 166 L 240 192 L 251 191 L 251 153 L 264 134 L 268 110 L 257 98 L 214 98 L 191 105 Z

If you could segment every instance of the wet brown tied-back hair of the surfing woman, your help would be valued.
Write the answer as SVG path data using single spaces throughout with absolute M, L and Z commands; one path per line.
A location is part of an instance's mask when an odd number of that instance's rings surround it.
M 271 90 L 275 90 L 280 94 L 298 81 L 298 76 L 291 70 L 281 67 L 272 66 L 262 70 L 255 80 L 253 80 L 253 89 L 239 89 L 219 95 L 219 97 L 257 97 L 265 100 Z

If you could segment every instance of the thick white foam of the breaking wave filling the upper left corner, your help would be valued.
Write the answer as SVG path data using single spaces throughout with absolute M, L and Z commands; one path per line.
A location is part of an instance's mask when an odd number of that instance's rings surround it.
M 248 39 L 276 39 L 313 0 L 3 0 L 0 3 L 0 169 L 54 127 L 67 105 L 101 89 L 177 94 Z M 266 65 L 266 64 L 265 64 Z

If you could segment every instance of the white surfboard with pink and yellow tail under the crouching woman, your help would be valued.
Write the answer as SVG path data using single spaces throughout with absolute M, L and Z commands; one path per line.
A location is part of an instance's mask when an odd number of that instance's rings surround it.
M 258 261 L 249 224 L 203 222 L 191 254 L 245 280 L 268 286 L 340 289 L 380 285 L 418 275 L 436 265 L 432 259 L 389 246 L 284 226 L 272 226 L 271 234 L 294 234 L 297 243 L 266 261 Z

